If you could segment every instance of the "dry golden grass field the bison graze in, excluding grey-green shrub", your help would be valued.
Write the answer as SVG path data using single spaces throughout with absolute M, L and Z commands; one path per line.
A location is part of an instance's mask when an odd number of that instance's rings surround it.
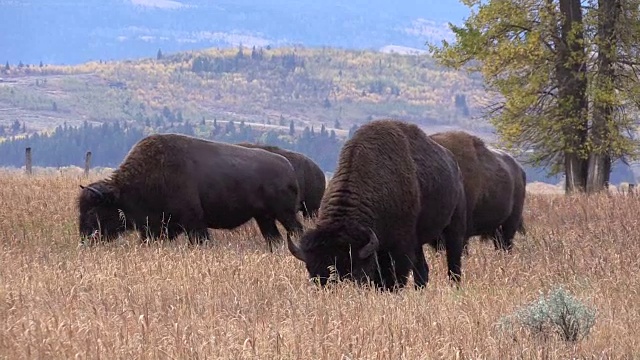
M 535 359 L 640 357 L 640 198 L 530 195 L 512 255 L 474 239 L 460 290 L 427 250 L 426 290 L 318 290 L 257 227 L 208 247 L 79 247 L 73 175 L 0 175 L 0 357 Z M 308 224 L 310 225 L 310 224 Z M 425 247 L 426 249 L 426 247 Z M 502 316 L 564 285 L 597 308 L 575 344 Z

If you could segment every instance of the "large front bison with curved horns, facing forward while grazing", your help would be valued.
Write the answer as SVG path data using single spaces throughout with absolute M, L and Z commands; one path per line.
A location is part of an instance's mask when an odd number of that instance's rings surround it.
M 343 146 L 316 228 L 300 245 L 290 237 L 287 244 L 322 286 L 339 278 L 391 289 L 404 287 L 411 270 L 416 287 L 427 283 L 422 245 L 444 234 L 449 276 L 459 281 L 464 206 L 462 177 L 446 149 L 415 125 L 376 120 Z

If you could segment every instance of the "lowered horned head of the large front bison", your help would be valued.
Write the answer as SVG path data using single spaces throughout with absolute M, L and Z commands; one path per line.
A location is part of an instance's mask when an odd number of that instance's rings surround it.
M 321 286 L 337 280 L 367 283 L 375 278 L 378 237 L 361 226 L 342 229 L 313 229 L 305 233 L 301 245 L 287 236 L 289 251 L 303 261 L 309 278 Z

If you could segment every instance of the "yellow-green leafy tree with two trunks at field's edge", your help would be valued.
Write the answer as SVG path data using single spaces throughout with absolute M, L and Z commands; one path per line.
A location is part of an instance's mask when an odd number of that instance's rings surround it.
M 485 115 L 510 150 L 564 171 L 566 192 L 601 190 L 612 160 L 636 155 L 640 1 L 461 2 L 472 12 L 450 25 L 456 42 L 431 53 L 501 95 Z

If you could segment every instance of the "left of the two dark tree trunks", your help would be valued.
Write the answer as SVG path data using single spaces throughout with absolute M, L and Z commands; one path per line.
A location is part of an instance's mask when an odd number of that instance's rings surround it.
M 587 141 L 587 64 L 583 44 L 580 0 L 560 0 L 561 41 L 558 44 L 556 75 L 560 121 L 564 123 L 565 192 L 583 192 L 587 161 L 581 151 Z

